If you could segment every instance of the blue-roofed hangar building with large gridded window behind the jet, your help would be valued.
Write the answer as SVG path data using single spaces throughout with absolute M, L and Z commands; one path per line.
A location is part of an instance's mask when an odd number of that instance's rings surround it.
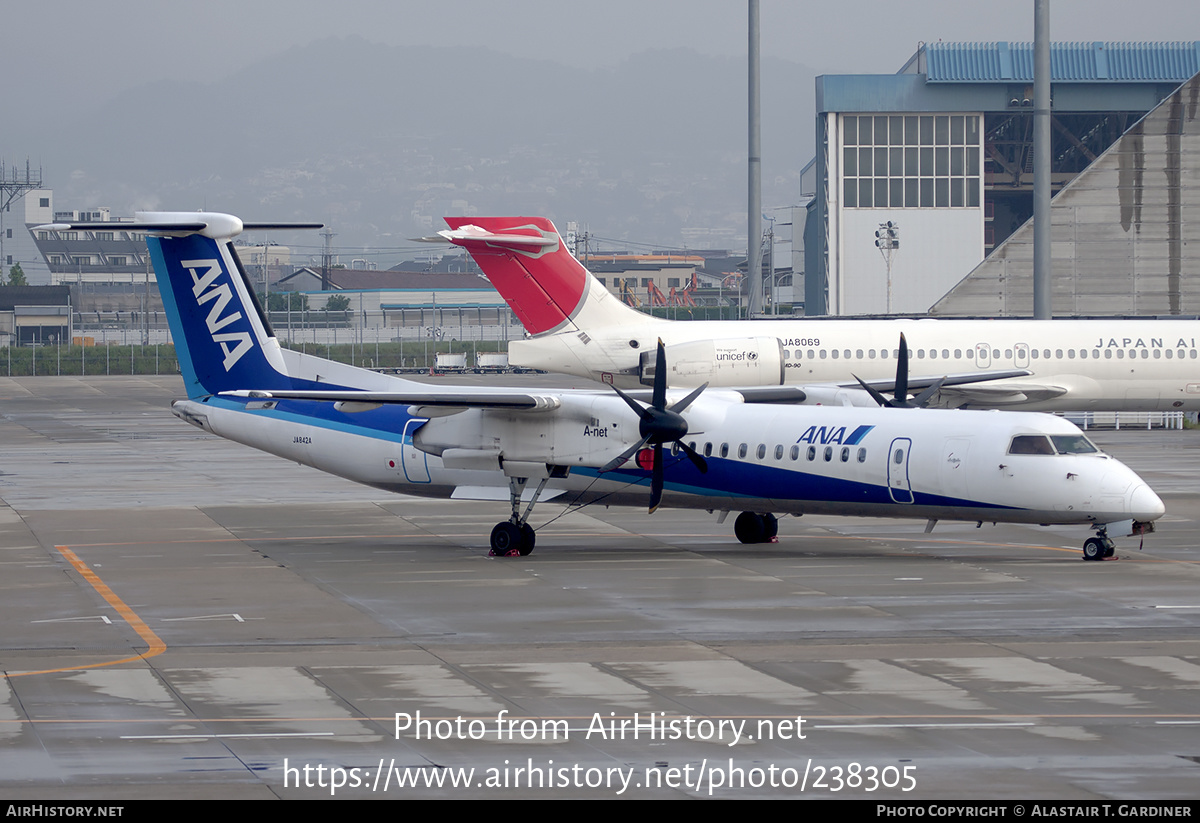
M 1198 72 L 1200 42 L 1051 44 L 1055 313 L 1200 301 L 1175 294 L 1189 239 L 1200 259 Z M 928 43 L 816 94 L 805 313 L 1031 314 L 1033 44 Z

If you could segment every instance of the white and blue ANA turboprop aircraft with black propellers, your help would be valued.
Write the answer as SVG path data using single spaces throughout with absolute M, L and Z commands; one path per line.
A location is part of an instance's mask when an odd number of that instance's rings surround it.
M 682 396 L 666 390 L 664 347 L 653 391 L 630 395 L 436 390 L 292 352 L 234 251 L 247 227 L 206 212 L 139 212 L 127 227 L 146 232 L 175 340 L 175 415 L 377 488 L 506 499 L 497 554 L 533 549 L 527 521 L 550 499 L 740 511 L 743 542 L 772 539 L 776 512 L 1078 523 L 1097 530 L 1088 559 L 1111 553 L 1110 530 L 1163 513 L 1138 475 L 1049 415 L 773 404 L 779 389 Z

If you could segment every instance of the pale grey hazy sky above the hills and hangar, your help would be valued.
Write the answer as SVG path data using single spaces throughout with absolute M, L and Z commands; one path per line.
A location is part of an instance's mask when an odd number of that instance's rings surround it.
M 480 46 L 580 67 L 656 47 L 737 55 L 746 41 L 743 0 L 4 0 L 0 8 L 0 102 L 25 107 L 25 116 L 47 96 L 60 106 L 149 79 L 221 79 L 330 35 Z M 1200 2 L 1052 0 L 1051 35 L 1200 40 Z M 893 72 L 920 41 L 1032 38 L 1032 0 L 762 0 L 764 54 L 818 73 Z M 428 80 L 434 88 L 432 67 Z

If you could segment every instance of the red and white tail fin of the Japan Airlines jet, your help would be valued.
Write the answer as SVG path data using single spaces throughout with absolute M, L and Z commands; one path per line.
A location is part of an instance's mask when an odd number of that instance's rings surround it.
M 575 259 L 545 217 L 446 217 L 438 234 L 466 248 L 532 335 L 580 331 L 646 317 Z

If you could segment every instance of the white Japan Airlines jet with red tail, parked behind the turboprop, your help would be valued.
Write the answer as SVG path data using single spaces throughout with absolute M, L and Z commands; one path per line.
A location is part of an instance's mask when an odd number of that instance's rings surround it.
M 941 380 L 944 408 L 1024 410 L 1200 409 L 1200 322 L 1104 320 L 689 320 L 620 302 L 541 217 L 448 217 L 439 238 L 462 246 L 530 337 L 509 344 L 514 366 L 652 384 L 654 342 L 667 347 L 674 388 L 794 385 L 808 402 L 871 404 L 890 378 L 904 332 L 910 388 Z

